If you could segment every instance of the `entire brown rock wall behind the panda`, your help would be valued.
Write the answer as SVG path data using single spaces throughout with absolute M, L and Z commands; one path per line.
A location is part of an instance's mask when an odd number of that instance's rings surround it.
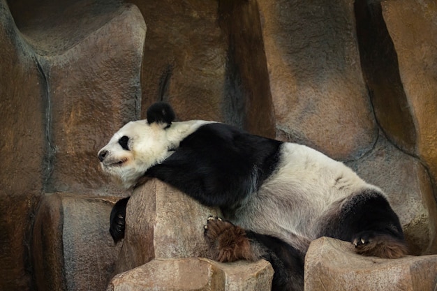
M 0 290 L 105 289 L 96 153 L 156 100 L 345 162 L 437 253 L 436 40 L 434 0 L 0 0 Z

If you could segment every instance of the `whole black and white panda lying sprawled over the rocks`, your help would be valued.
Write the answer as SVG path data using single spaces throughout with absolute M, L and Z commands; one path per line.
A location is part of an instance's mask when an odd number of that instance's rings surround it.
M 210 207 L 205 238 L 215 260 L 265 258 L 273 290 L 303 290 L 304 255 L 318 237 L 350 241 L 362 255 L 407 253 L 397 214 L 380 188 L 349 167 L 302 144 L 280 142 L 214 121 L 174 122 L 167 103 L 147 120 L 123 126 L 98 152 L 122 186 L 157 178 Z M 124 235 L 124 200 L 111 215 L 114 240 Z

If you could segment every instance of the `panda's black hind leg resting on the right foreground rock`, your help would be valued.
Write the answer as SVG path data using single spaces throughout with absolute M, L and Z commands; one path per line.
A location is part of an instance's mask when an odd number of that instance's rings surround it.
M 341 210 L 339 225 L 361 255 L 401 258 L 408 253 L 401 223 L 389 202 L 376 191 L 364 191 L 352 197 Z M 340 237 L 346 239 L 346 237 Z

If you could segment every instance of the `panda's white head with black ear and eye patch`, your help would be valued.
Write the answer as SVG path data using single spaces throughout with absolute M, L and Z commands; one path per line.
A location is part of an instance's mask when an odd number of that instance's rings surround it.
M 134 186 L 149 167 L 171 155 L 180 138 L 169 135 L 175 113 L 167 103 L 155 103 L 147 110 L 147 119 L 131 121 L 115 133 L 98 151 L 103 172 L 122 186 Z

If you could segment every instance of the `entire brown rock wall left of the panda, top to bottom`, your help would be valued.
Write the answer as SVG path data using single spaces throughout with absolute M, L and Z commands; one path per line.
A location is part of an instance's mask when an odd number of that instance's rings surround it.
M 121 1 L 2 0 L 0 13 L 0 290 L 105 288 L 119 252 L 108 218 L 126 192 L 96 152 L 140 117 L 144 18 Z

